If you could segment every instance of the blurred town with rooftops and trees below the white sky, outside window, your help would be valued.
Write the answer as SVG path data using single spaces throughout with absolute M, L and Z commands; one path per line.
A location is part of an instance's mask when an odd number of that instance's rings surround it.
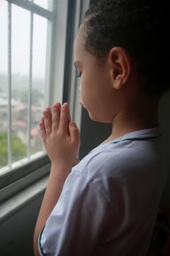
M 0 167 L 7 165 L 7 75 L 0 73 Z M 34 80 L 31 105 L 31 154 L 42 151 L 39 120 L 44 107 L 44 84 Z M 28 78 L 12 75 L 12 162 L 27 157 L 28 145 Z

